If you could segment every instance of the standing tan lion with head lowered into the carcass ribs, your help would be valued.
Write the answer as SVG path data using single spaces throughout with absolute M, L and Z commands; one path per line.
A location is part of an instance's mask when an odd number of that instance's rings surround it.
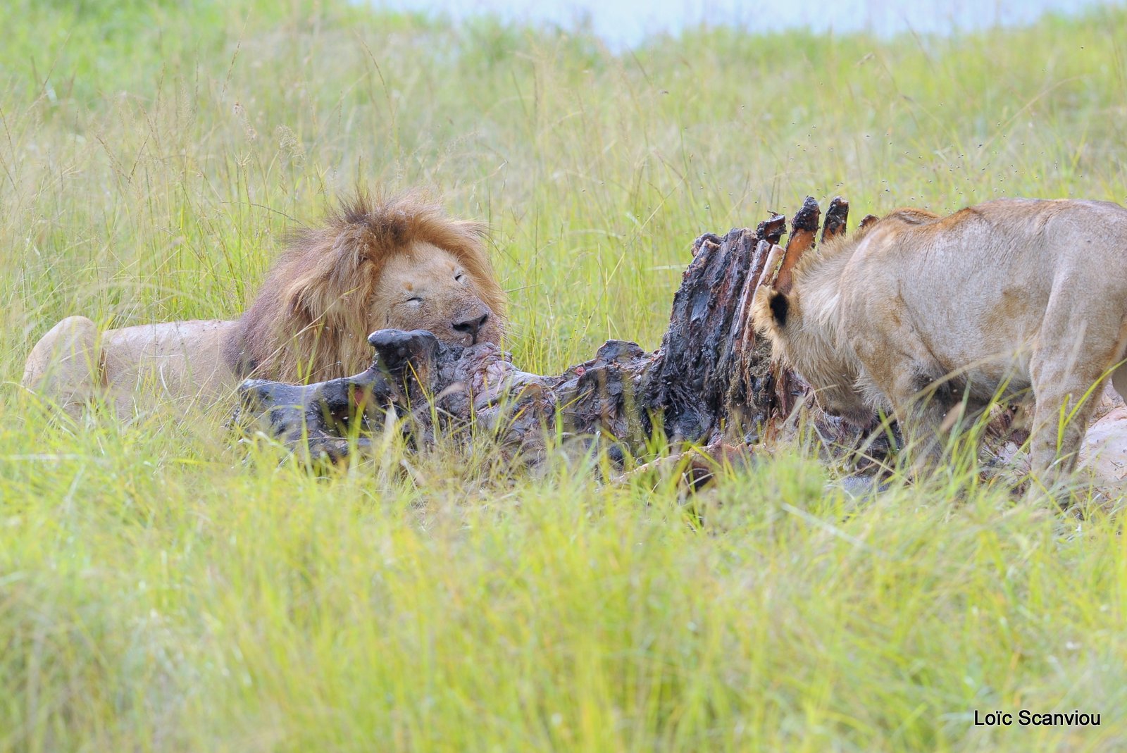
M 894 410 L 923 463 L 952 409 L 1032 388 L 1031 466 L 1051 480 L 1074 467 L 1107 376 L 1127 395 L 1127 210 L 897 210 L 764 285 L 753 322 L 832 413 Z

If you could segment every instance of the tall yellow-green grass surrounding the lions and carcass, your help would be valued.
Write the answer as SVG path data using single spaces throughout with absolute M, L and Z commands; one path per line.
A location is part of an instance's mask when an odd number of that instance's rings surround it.
M 806 194 L 1122 202 L 1127 14 L 621 55 L 334 2 L 0 29 L 0 750 L 1127 747 L 1117 500 L 1062 515 L 970 462 L 852 499 L 801 448 L 690 500 L 485 446 L 323 479 L 224 406 L 57 425 L 17 386 L 70 313 L 237 316 L 357 180 L 490 222 L 541 372 L 656 346 L 692 239 Z M 973 724 L 1022 708 L 1101 726 Z

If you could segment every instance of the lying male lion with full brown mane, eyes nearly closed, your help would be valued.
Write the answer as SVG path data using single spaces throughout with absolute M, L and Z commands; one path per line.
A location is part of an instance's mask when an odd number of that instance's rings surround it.
M 236 321 L 174 321 L 100 334 L 68 317 L 32 349 L 23 383 L 76 415 L 92 398 L 132 416 L 154 400 L 213 402 L 248 375 L 323 380 L 371 360 L 369 333 L 427 329 L 497 343 L 505 299 L 482 223 L 408 194 L 360 194 L 296 233 Z

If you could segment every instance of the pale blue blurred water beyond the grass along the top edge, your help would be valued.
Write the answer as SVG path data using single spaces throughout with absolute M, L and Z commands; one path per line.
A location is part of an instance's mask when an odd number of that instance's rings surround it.
M 360 0 L 365 1 L 365 0 Z M 946 34 L 996 25 L 1029 24 L 1045 12 L 1075 14 L 1124 0 L 367 0 L 392 10 L 423 11 L 452 19 L 488 14 L 504 20 L 565 29 L 589 28 L 613 50 L 631 47 L 651 34 L 687 27 L 813 32 L 870 30 Z

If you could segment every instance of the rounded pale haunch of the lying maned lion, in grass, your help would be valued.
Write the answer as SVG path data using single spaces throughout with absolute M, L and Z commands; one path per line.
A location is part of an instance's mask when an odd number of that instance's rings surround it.
M 98 328 L 86 317 L 66 317 L 32 348 L 20 383 L 78 417 L 103 381 Z

